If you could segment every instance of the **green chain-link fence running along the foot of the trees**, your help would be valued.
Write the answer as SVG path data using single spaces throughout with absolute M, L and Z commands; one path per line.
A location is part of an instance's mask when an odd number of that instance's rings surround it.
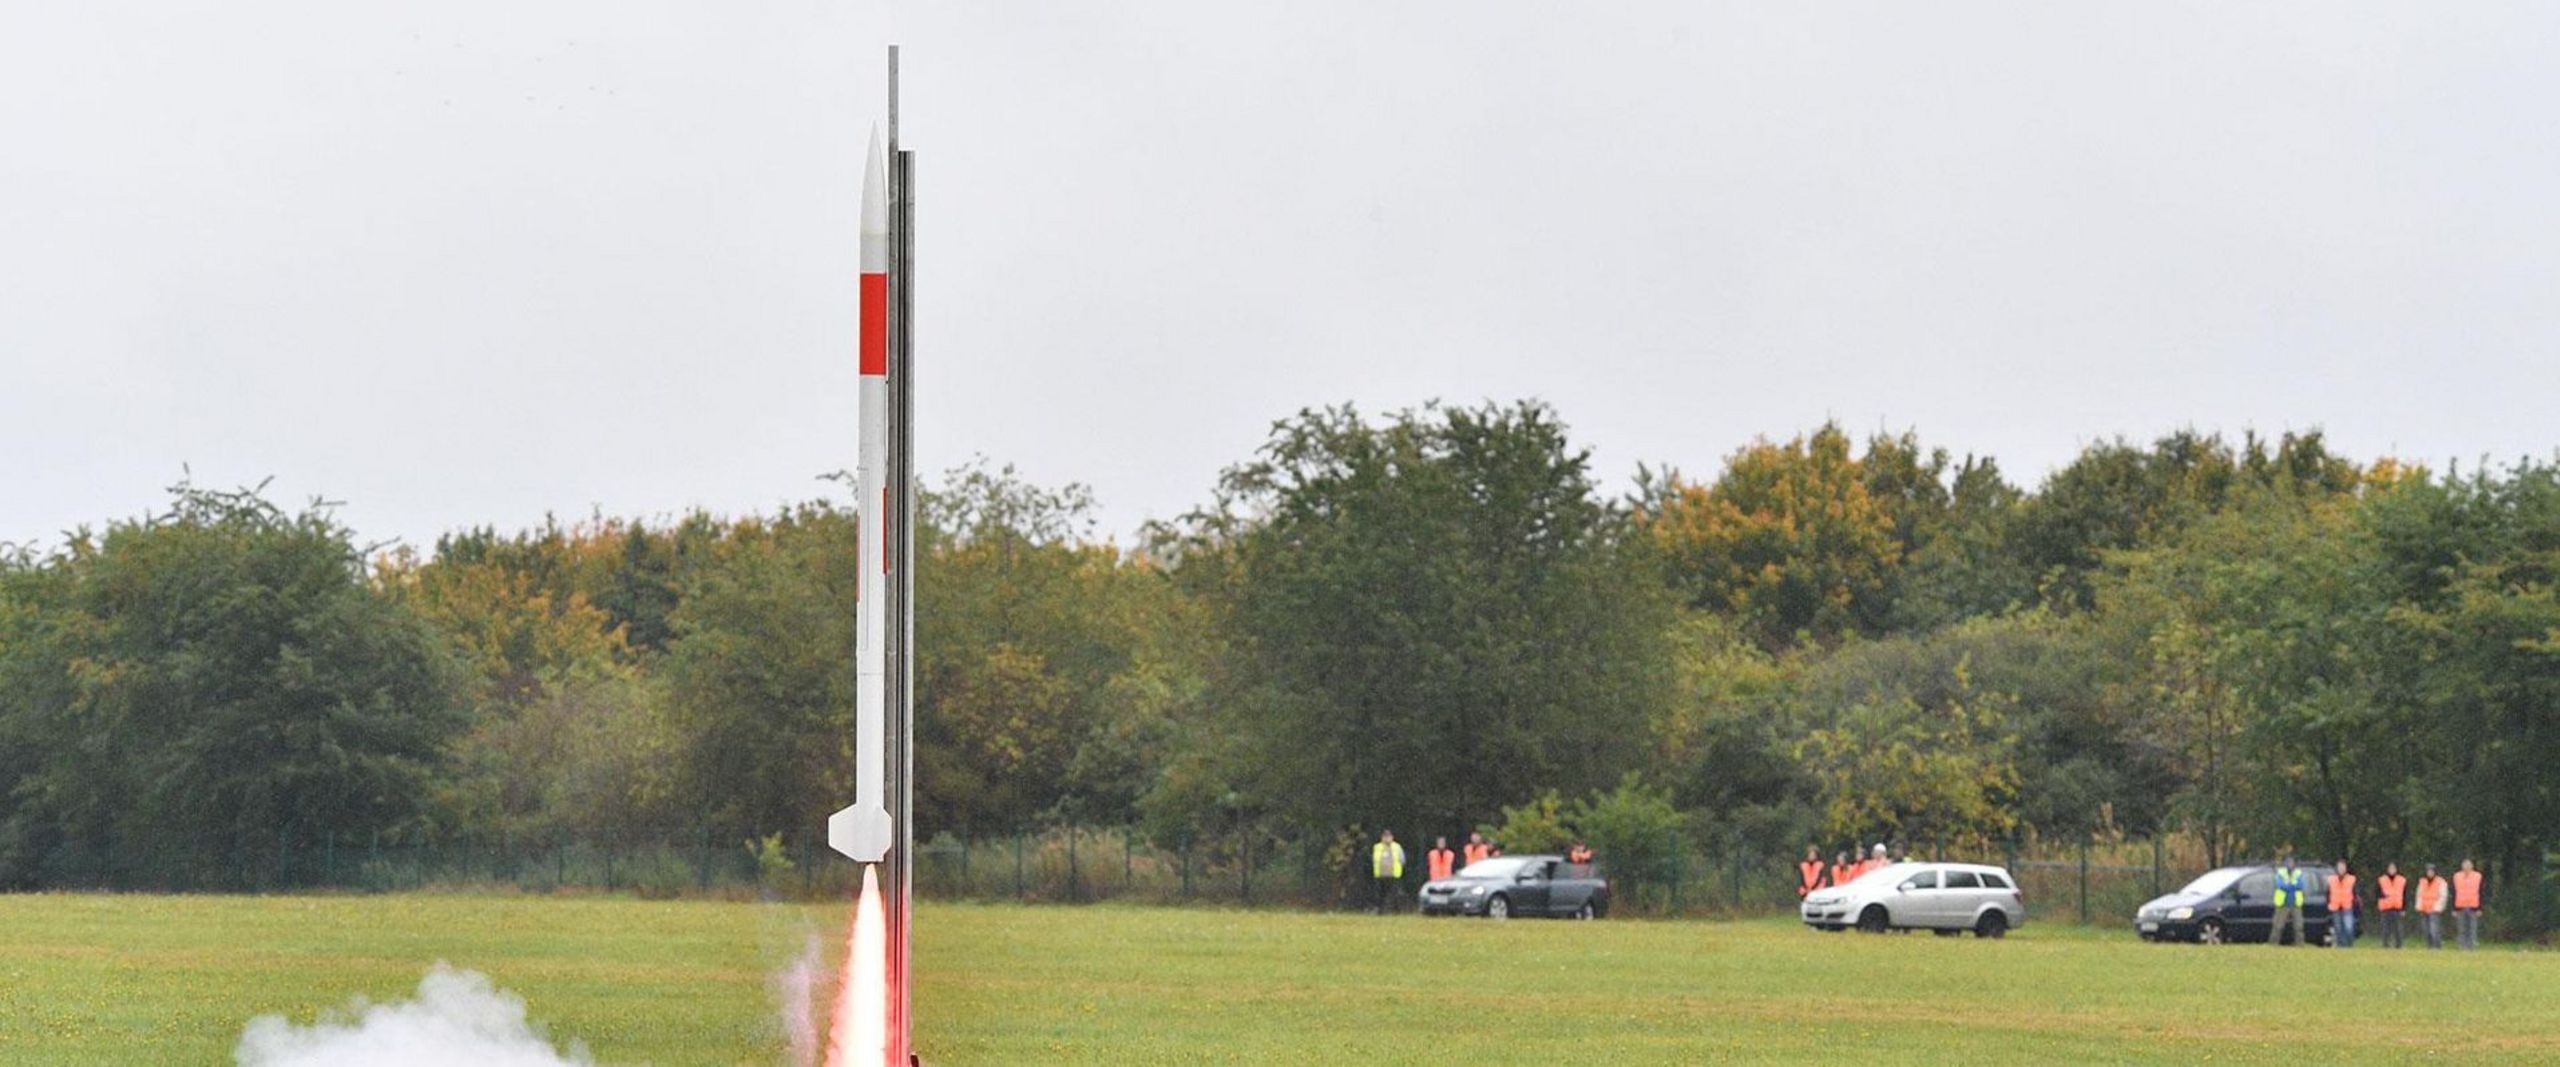
M 1331 852 L 1331 857 L 1329 857 Z M 937 837 L 916 847 L 916 896 L 1021 903 L 1208 903 L 1364 908 L 1364 842 L 1311 844 L 1272 834 L 1213 834 L 1172 844 L 1134 829 L 1055 826 L 993 839 Z M 1600 870 L 1623 916 L 1779 916 L 1797 906 L 1802 852 L 1672 842 L 1661 870 Z M 1910 860 L 1997 862 L 2017 875 L 2040 924 L 2120 929 L 2135 908 L 2186 885 L 2207 860 L 2186 839 L 2010 842 L 1997 855 L 1917 842 Z M 1423 883 L 1423 847 L 1405 852 L 1405 903 Z M 2406 867 L 2406 865 L 2404 865 Z M 2365 873 L 2365 885 L 2371 885 Z M 2491 931 L 2550 929 L 2560 911 L 2560 857 L 2491 883 Z M 279 837 L 236 842 L 215 860 L 56 850 L 38 888 L 300 893 L 300 890 L 520 890 L 635 893 L 645 898 L 804 898 L 852 893 L 858 867 L 824 847 L 822 829 L 755 839 L 707 829 L 581 839 L 435 839 L 422 834 Z

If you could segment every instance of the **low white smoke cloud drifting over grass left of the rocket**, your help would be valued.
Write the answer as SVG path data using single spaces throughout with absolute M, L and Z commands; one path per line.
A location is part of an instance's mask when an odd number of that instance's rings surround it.
M 586 1044 L 553 1049 L 525 1018 L 525 998 L 474 970 L 428 967 L 415 1000 L 356 998 L 310 1026 L 259 1016 L 233 1049 L 241 1067 L 584 1067 Z

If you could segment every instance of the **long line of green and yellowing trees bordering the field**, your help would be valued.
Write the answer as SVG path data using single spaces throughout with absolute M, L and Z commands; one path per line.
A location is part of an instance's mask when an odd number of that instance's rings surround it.
M 850 796 L 855 522 L 371 550 L 179 486 L 10 550 L 0 883 L 279 834 L 814 834 Z M 2020 486 L 1823 425 L 1610 496 L 1539 402 L 1336 407 L 1129 545 L 1080 486 L 963 466 L 916 553 L 927 837 L 2176 832 L 2540 893 L 2560 826 L 2545 461 L 2181 430 Z

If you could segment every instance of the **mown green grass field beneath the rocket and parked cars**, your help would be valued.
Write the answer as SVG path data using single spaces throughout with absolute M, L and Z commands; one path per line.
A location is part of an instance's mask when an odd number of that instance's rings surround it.
M 0 1062 L 220 1064 L 259 1013 L 433 960 L 612 1064 L 776 1064 L 768 980 L 842 916 L 504 896 L 0 896 Z M 2560 954 L 2007 942 L 1787 921 L 924 906 L 932 1064 L 2560 1062 Z M 1930 1057 L 1930 1059 L 1923 1059 Z

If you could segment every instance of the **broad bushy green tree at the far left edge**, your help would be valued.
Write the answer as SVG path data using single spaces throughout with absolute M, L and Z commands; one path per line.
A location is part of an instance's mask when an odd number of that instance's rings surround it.
M 461 676 L 328 509 L 179 486 L 13 571 L 49 604 L 0 609 L 0 673 L 38 676 L 0 693 L 31 752 L 0 880 L 202 883 L 251 850 L 425 816 Z

